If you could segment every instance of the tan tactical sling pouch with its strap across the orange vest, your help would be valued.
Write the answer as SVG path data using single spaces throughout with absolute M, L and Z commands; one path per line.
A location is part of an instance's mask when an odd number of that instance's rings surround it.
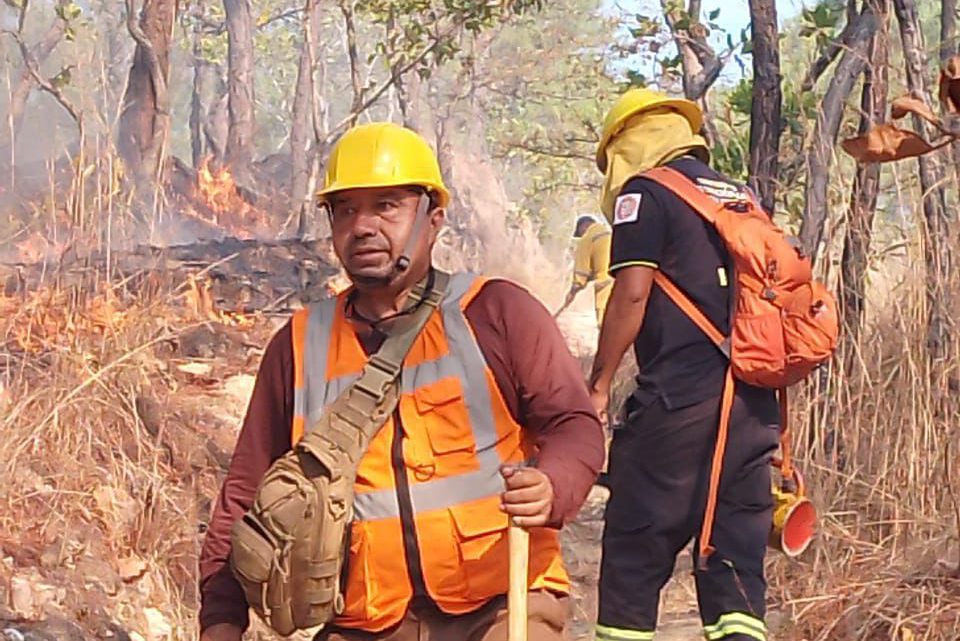
M 274 462 L 253 507 L 233 526 L 233 573 L 250 607 L 281 635 L 343 611 L 340 575 L 357 466 L 397 406 L 403 359 L 439 306 L 449 275 L 435 271 L 432 287 L 430 280 L 411 292 L 415 311 L 391 330 L 360 378 Z

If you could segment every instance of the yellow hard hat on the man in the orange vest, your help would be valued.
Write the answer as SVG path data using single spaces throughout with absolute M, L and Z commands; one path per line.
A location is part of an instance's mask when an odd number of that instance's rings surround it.
M 433 149 L 419 134 L 390 122 L 358 125 L 330 152 L 323 189 L 317 197 L 344 189 L 417 185 L 437 195 L 446 207 L 450 192 L 443 184 Z

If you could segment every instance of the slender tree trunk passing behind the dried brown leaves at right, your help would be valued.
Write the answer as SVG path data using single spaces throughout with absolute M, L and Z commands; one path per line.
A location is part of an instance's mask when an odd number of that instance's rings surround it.
M 907 87 L 910 92 L 932 104 L 927 85 L 927 57 L 924 53 L 920 17 L 914 0 L 893 0 L 900 24 Z M 935 137 L 932 127 L 914 117 L 916 131 L 928 140 Z M 927 345 L 935 358 L 944 355 L 949 338 L 946 284 L 950 276 L 949 228 L 947 225 L 946 194 L 944 193 L 943 155 L 920 156 L 920 190 L 923 194 L 924 259 L 927 267 Z

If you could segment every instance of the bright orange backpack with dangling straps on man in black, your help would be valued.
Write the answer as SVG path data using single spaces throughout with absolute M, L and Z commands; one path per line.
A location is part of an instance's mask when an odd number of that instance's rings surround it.
M 662 271 L 654 282 L 727 356 L 720 426 L 700 531 L 700 559 L 713 552 L 710 535 L 726 449 L 735 379 L 779 391 L 781 467 L 794 477 L 787 430 L 786 388 L 806 378 L 833 354 L 840 323 L 833 295 L 813 279 L 810 259 L 784 235 L 753 198 L 721 203 L 669 167 L 642 174 L 686 202 L 719 233 L 732 259 L 730 334 L 725 336 Z

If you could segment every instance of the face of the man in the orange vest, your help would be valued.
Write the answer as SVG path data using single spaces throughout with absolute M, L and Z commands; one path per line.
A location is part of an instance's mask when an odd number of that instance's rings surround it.
M 329 198 L 333 246 L 351 280 L 359 286 L 388 285 L 413 231 L 420 194 L 404 187 L 348 189 Z M 429 264 L 443 210 L 428 213 L 410 251 L 411 273 Z

